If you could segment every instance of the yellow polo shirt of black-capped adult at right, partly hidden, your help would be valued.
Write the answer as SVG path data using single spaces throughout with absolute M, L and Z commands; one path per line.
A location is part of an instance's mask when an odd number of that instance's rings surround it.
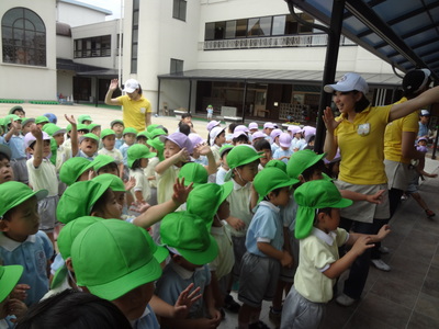
M 399 104 L 407 101 L 406 98 L 402 98 L 395 104 Z M 387 124 L 384 133 L 384 158 L 386 160 L 402 162 L 402 163 L 410 163 L 410 159 L 404 158 L 402 155 L 402 140 L 403 133 L 415 133 L 418 134 L 419 125 L 418 125 L 418 111 L 412 112 L 410 114 L 395 120 Z

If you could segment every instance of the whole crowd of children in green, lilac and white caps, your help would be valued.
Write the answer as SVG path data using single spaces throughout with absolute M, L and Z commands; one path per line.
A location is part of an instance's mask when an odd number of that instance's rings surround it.
M 169 134 L 24 115 L 15 106 L 0 127 L 0 328 L 49 315 L 57 328 L 66 305 L 77 314 L 68 328 L 110 317 L 119 328 L 216 328 L 226 311 L 239 329 L 269 328 L 262 300 L 277 326 L 317 328 L 336 279 L 390 232 L 338 228 L 348 198 L 381 194 L 339 192 L 340 157 L 325 166 L 313 127 L 211 121 L 204 134 L 187 123 Z

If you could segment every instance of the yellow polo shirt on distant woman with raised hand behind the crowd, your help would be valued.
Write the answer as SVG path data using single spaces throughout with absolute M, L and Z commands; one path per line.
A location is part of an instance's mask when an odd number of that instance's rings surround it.
M 151 105 L 147 99 L 140 97 L 138 101 L 133 101 L 127 95 L 117 98 L 122 104 L 122 120 L 125 127 L 133 127 L 137 132 L 145 131 L 145 115 L 151 112 Z

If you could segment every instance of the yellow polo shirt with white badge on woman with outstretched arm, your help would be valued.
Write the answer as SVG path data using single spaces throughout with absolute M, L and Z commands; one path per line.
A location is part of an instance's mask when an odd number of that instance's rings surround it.
M 341 156 L 339 180 L 360 185 L 387 182 L 383 163 L 384 131 L 391 107 L 369 106 L 357 113 L 352 123 L 344 115 L 336 118 L 341 121 L 334 133 Z

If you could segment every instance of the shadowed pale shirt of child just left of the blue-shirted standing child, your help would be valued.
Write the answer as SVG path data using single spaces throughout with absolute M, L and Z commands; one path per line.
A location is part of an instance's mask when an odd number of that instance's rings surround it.
M 216 279 L 219 281 L 223 276 L 232 272 L 235 264 L 235 254 L 230 232 L 224 225 L 221 227 L 212 226 L 211 235 L 218 245 L 218 256 L 209 263 L 209 269 L 215 271 Z

